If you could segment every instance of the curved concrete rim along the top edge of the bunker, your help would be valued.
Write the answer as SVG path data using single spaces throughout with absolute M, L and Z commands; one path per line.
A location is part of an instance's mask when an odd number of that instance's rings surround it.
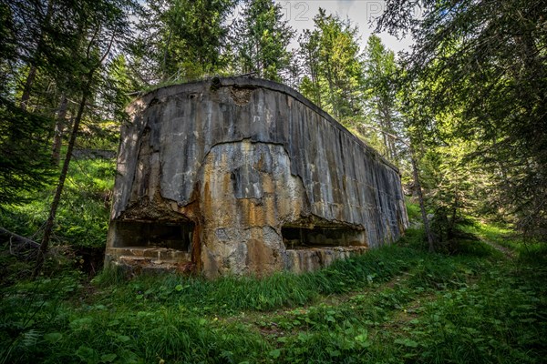
M 385 164 L 387 167 L 390 167 L 394 171 L 397 172 L 397 174 L 400 176 L 399 169 L 393 165 L 391 162 L 387 160 L 386 157 L 382 156 L 377 152 L 376 149 L 373 147 L 370 147 L 366 144 L 365 141 L 354 135 L 352 132 L 347 130 L 346 126 L 343 126 L 340 124 L 333 116 L 330 116 L 325 110 L 320 108 L 319 106 L 316 106 L 312 101 L 305 98 L 302 94 L 300 94 L 298 91 L 294 90 L 293 88 L 279 84 L 277 82 L 266 80 L 262 78 L 253 78 L 248 76 L 235 76 L 235 77 L 212 77 L 212 78 L 206 78 L 199 81 L 193 81 L 189 83 L 184 83 L 180 85 L 171 85 L 171 86 L 163 86 L 160 88 L 157 88 L 155 90 L 150 91 L 147 94 L 143 94 L 139 96 L 139 98 L 133 100 L 131 104 L 127 107 L 126 111 L 128 114 L 133 114 L 136 107 L 139 107 L 142 109 L 143 107 L 149 107 L 152 105 L 155 105 L 158 102 L 161 102 L 163 98 L 167 98 L 169 96 L 174 96 L 182 92 L 199 92 L 201 91 L 201 87 L 204 84 L 211 84 L 213 90 L 218 90 L 222 87 L 228 87 L 228 86 L 236 86 L 236 87 L 253 87 L 253 88 L 264 88 L 268 90 L 273 90 L 276 92 L 280 92 L 284 95 L 293 97 L 296 101 L 299 101 L 300 103 L 304 104 L 304 106 L 309 107 L 315 113 L 317 113 L 320 116 L 323 116 L 326 121 L 328 121 L 332 126 L 335 126 L 338 130 L 345 133 L 347 136 L 350 136 L 356 141 L 358 145 L 361 147 L 364 147 L 367 151 L 372 153 L 375 157 L 377 157 L 383 164 Z M 156 101 L 154 101 L 156 100 Z

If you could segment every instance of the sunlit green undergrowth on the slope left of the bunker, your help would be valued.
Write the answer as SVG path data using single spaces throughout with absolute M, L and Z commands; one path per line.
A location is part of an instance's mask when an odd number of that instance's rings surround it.
M 98 272 L 104 257 L 115 174 L 113 160 L 73 159 L 43 269 L 46 276 L 62 275 L 75 268 L 91 275 Z M 40 242 L 54 190 L 52 185 L 27 196 L 24 204 L 0 208 L 0 227 Z M 19 258 L 10 250 L 17 251 Z M 35 260 L 32 253 L 36 251 L 20 251 L 9 238 L 2 237 L 0 285 L 30 277 Z

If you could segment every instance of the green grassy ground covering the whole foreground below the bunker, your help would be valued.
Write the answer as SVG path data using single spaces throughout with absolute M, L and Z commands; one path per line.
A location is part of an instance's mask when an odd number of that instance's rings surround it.
M 409 230 L 299 276 L 22 281 L 0 290 L 0 363 L 541 363 L 545 267 L 479 240 L 431 254 Z

